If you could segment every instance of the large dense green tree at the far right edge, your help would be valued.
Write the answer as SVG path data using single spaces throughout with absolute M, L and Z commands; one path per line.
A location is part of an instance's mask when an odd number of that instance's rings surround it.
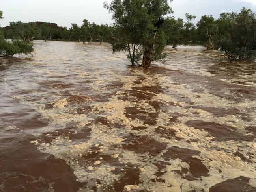
M 243 8 L 239 14 L 222 13 L 218 19 L 219 44 L 229 59 L 256 59 L 256 15 Z

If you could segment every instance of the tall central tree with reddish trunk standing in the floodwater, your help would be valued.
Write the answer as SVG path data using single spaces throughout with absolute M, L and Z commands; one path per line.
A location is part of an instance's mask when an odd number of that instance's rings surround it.
M 113 13 L 116 37 L 112 38 L 113 52 L 126 50 L 132 66 L 142 58 L 147 68 L 152 61 L 164 59 L 166 37 L 164 16 L 172 12 L 168 0 L 112 0 L 105 8 Z

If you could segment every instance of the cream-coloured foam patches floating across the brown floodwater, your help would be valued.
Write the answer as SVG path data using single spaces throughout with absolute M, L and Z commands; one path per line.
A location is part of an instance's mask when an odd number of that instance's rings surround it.
M 173 52 L 178 54 L 179 50 Z M 198 51 L 194 52 L 194 50 L 183 52 L 186 57 L 190 57 L 191 53 L 194 55 L 199 54 L 196 57 L 202 57 L 205 54 Z M 211 55 L 208 56 L 210 57 Z M 215 56 L 217 59 L 221 58 L 218 54 Z M 172 57 L 175 57 L 175 55 Z M 172 67 L 174 67 L 173 73 L 176 73 L 177 70 L 182 71 L 184 66 L 187 66 L 188 68 L 185 71 L 188 73 L 191 72 L 192 74 L 215 78 L 215 75 L 208 72 L 208 69 L 204 69 L 209 64 L 207 62 L 202 63 L 202 66 L 200 66 L 200 62 L 188 60 L 187 63 L 181 65 L 182 62 L 171 62 L 173 63 Z M 160 64 L 156 65 L 160 66 Z M 161 64 L 161 66 L 163 65 Z M 211 186 L 240 176 L 248 177 L 250 179 L 249 184 L 254 187 L 256 186 L 255 140 L 219 141 L 206 130 L 195 129 L 186 124 L 189 120 L 214 122 L 233 127 L 241 135 L 249 134 L 254 136 L 254 133 L 248 133 L 246 128 L 256 124 L 256 111 L 250 110 L 256 107 L 255 100 L 243 99 L 234 101 L 228 97 L 220 97 L 212 94 L 214 90 L 206 86 L 206 83 L 209 82 L 192 83 L 191 85 L 185 82 L 177 83 L 175 78 L 172 78 L 172 74 L 170 76 L 154 74 L 153 72 L 150 73 L 140 69 L 125 69 L 129 72 L 125 71 L 127 74 L 120 74 L 118 70 L 113 68 L 106 68 L 104 71 L 95 70 L 94 72 L 84 72 L 79 68 L 63 70 L 58 74 L 48 71 L 48 75 L 61 76 L 63 73 L 68 74 L 72 72 L 77 75 L 75 78 L 80 78 L 80 81 L 88 79 L 87 76 L 93 77 L 95 79 L 91 78 L 91 82 L 88 83 L 88 86 L 91 86 L 90 91 L 93 94 L 108 93 L 108 100 L 104 102 L 93 99 L 88 100 L 86 105 L 90 106 L 91 109 L 85 110 L 86 113 L 78 114 L 77 108 L 81 107 L 82 104 L 68 103 L 68 97 L 57 92 L 50 92 L 50 99 L 47 102 L 43 99 L 31 102 L 27 100 L 26 96 L 19 96 L 17 99 L 21 103 L 32 105 L 43 118 L 49 120 L 49 124 L 46 127 L 32 131 L 29 130 L 31 134 L 37 137 L 36 140 L 32 140 L 31 144 L 37 145 L 38 150 L 43 153 L 48 153 L 56 158 L 65 160 L 67 165 L 74 170 L 78 181 L 88 182 L 86 186 L 80 189 L 81 192 L 90 191 L 93 186 L 98 191 L 104 191 L 104 189 L 105 191 L 114 191 L 114 184 L 123 178 L 127 168 L 134 167 L 134 170 L 138 171 L 140 183 L 136 185 L 135 183 L 127 183 L 127 189 L 130 188 L 131 191 L 181 192 L 182 190 L 182 192 L 192 192 L 204 190 L 208 192 Z M 248 79 L 250 76 L 245 75 L 243 78 Z M 140 81 L 140 84 L 135 83 L 135 81 Z M 79 82 L 74 80 L 73 83 L 77 85 Z M 124 84 L 121 87 L 117 86 L 114 90 L 109 90 L 110 88 L 105 85 L 114 84 L 113 82 L 123 82 Z M 229 83 L 230 81 L 227 80 L 226 82 Z M 250 85 L 255 86 L 253 83 Z M 153 92 L 153 89 L 152 91 L 150 89 L 146 91 L 136 89 L 135 91 L 135 87 L 143 88 L 146 86 L 159 87 L 163 91 Z M 196 92 L 194 91 L 195 88 L 202 90 Z M 87 93 L 89 94 L 90 91 Z M 135 91 L 138 95 L 131 94 L 132 91 Z M 78 92 L 84 94 L 82 89 L 77 91 L 71 90 L 69 94 L 75 95 Z M 222 93 L 226 96 L 234 96 L 230 89 L 223 90 Z M 138 98 L 140 94 L 151 94 L 152 97 L 148 99 Z M 40 96 L 42 97 L 42 95 Z M 150 102 L 160 102 L 163 106 L 155 109 L 149 104 Z M 47 108 L 47 104 L 50 103 L 52 103 L 52 107 Z M 215 107 L 216 110 L 218 108 L 236 108 L 239 109 L 239 114 L 216 116 L 207 111 L 207 109 L 199 109 L 202 106 Z M 129 118 L 129 115 L 126 113 L 126 109 L 129 107 L 141 110 L 142 114 L 135 114 L 136 118 Z M 144 124 L 144 120 L 141 120 L 143 115 L 150 113 L 157 113 L 155 125 Z M 177 117 L 177 120 L 174 120 L 174 114 L 180 115 Z M 244 120 L 242 114 L 247 114 L 252 120 Z M 104 125 L 103 123 L 94 122 L 97 118 L 105 118 L 109 123 Z M 146 127 L 146 129 L 132 130 L 134 127 L 142 126 Z M 164 128 L 162 131 L 173 131 L 174 134 L 169 134 L 168 137 L 165 137 L 161 131 L 156 131 L 159 127 Z M 74 135 L 88 133 L 88 137 L 73 139 L 70 138 L 70 135 L 54 134 L 56 130 L 62 128 L 67 129 L 70 134 L 72 132 Z M 84 132 L 83 129 L 88 131 Z M 47 134 L 47 137 L 53 138 L 50 143 L 45 142 L 45 134 Z M 145 150 L 146 153 L 136 153 L 136 149 L 123 148 L 125 145 L 132 145 L 137 137 L 139 138 L 144 135 L 156 142 L 165 144 L 166 148 L 157 155 L 150 154 L 148 152 L 150 150 Z M 164 152 L 168 151 L 168 148 L 171 147 L 199 151 L 199 155 L 194 155 L 192 158 L 199 159 L 209 170 L 209 175 L 198 176 L 194 181 L 182 178 L 176 170 L 181 171 L 182 168 L 189 170 L 190 165 L 178 157 L 177 159 L 165 160 Z M 151 146 L 148 146 L 148 148 L 150 149 Z M 237 151 L 248 161 L 242 160 L 235 155 Z M 96 157 L 88 158 L 92 154 L 96 154 Z M 107 160 L 106 156 L 110 157 L 111 161 L 115 161 L 115 163 Z M 165 162 L 166 166 L 161 170 L 163 175 L 157 178 L 159 170 L 154 163 L 161 161 Z M 145 171 L 140 171 L 140 168 L 143 168 Z M 192 173 L 188 172 L 187 175 L 192 175 Z M 97 183 L 97 179 L 101 183 Z M 153 182 L 153 179 L 160 179 L 163 182 Z

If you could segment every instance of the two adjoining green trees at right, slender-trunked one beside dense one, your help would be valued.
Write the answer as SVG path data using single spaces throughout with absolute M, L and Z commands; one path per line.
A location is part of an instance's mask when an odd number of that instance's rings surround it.
M 221 13 L 217 20 L 204 15 L 197 23 L 197 34 L 208 49 L 220 48 L 228 59 L 256 59 L 256 15 L 250 9 Z

